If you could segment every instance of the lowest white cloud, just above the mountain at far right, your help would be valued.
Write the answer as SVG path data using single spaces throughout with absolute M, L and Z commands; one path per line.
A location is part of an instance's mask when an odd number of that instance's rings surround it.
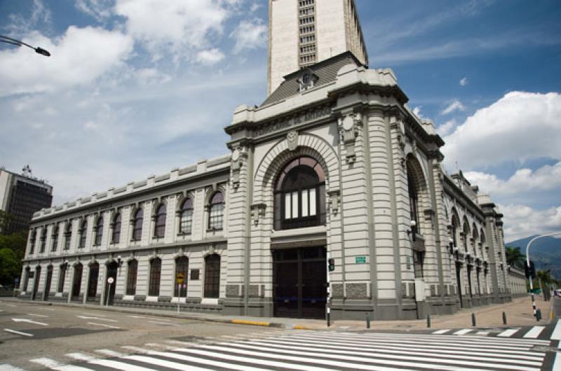
M 504 214 L 505 241 L 561 230 L 561 206 L 533 209 L 520 204 L 499 204 Z

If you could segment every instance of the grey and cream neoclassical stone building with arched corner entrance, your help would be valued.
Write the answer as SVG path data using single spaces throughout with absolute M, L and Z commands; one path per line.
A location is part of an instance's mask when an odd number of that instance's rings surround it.
M 36 213 L 22 297 L 334 319 L 511 300 L 502 215 L 406 103 L 351 52 L 285 76 L 236 109 L 228 155 Z

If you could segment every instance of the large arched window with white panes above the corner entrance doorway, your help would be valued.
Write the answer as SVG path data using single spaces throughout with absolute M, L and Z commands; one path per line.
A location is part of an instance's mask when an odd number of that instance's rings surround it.
M 275 229 L 325 224 L 325 173 L 317 160 L 292 160 L 275 186 Z

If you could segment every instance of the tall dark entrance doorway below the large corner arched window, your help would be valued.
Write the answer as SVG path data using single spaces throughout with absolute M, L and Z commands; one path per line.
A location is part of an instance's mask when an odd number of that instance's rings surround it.
M 325 318 L 325 259 L 325 247 L 273 251 L 274 316 Z

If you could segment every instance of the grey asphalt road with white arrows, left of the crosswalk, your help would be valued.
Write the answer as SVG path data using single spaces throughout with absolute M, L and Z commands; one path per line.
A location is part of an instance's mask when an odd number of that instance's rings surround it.
M 116 311 L 58 307 L 0 300 L 0 364 L 44 370 L 32 358 L 64 358 L 69 351 L 142 346 L 175 340 L 271 334 L 276 328 L 210 323 Z

